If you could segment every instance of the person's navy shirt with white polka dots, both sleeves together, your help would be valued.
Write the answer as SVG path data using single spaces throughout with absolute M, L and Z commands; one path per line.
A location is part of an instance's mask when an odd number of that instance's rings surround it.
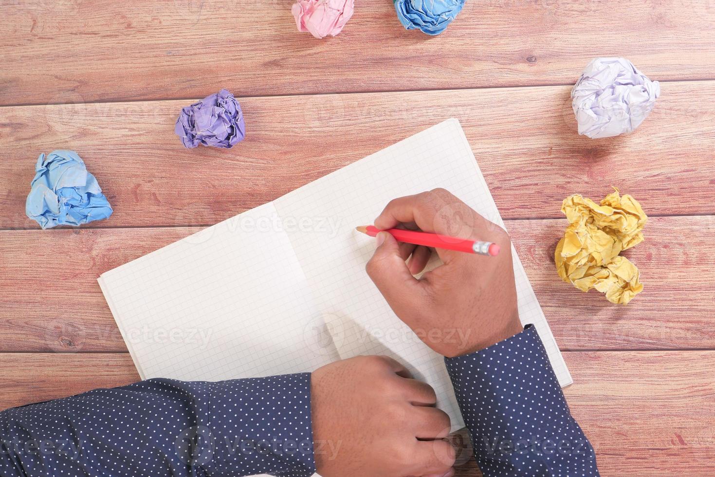
M 446 359 L 485 477 L 598 476 L 536 328 Z M 2 476 L 308 477 L 310 374 L 154 379 L 0 413 Z

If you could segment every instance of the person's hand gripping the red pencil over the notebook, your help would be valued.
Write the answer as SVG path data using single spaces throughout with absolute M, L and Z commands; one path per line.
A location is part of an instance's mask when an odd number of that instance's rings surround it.
M 405 227 L 501 247 L 496 257 L 485 257 L 415 247 L 396 242 L 387 232 L 378 234 L 368 274 L 400 320 L 437 353 L 448 357 L 472 353 L 522 330 L 511 242 L 501 227 L 443 189 L 393 200 L 375 219 L 375 227 Z M 443 265 L 420 280 L 413 277 L 433 252 Z

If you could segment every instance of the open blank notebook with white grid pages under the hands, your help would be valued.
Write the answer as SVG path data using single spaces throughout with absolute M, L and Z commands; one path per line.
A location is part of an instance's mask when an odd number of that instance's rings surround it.
M 443 358 L 390 310 L 365 273 L 375 239 L 355 231 L 394 197 L 435 187 L 503 226 L 456 119 L 99 277 L 139 375 L 225 380 L 310 371 L 385 354 L 435 388 L 463 426 Z M 516 251 L 519 313 L 561 385 L 571 383 Z

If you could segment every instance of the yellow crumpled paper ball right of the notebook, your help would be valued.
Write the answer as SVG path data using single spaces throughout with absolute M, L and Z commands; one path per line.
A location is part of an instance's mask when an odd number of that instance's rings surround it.
M 578 194 L 563 200 L 569 225 L 554 259 L 564 282 L 584 292 L 596 288 L 609 302 L 627 305 L 643 284 L 636 265 L 618 254 L 643 241 L 648 216 L 637 200 L 613 189 L 600 205 Z

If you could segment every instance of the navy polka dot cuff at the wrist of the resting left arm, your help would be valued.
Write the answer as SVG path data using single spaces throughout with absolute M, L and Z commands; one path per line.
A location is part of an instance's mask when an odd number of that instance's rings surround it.
M 310 373 L 209 383 L 209 390 L 213 455 L 204 468 L 211 475 L 315 473 Z

